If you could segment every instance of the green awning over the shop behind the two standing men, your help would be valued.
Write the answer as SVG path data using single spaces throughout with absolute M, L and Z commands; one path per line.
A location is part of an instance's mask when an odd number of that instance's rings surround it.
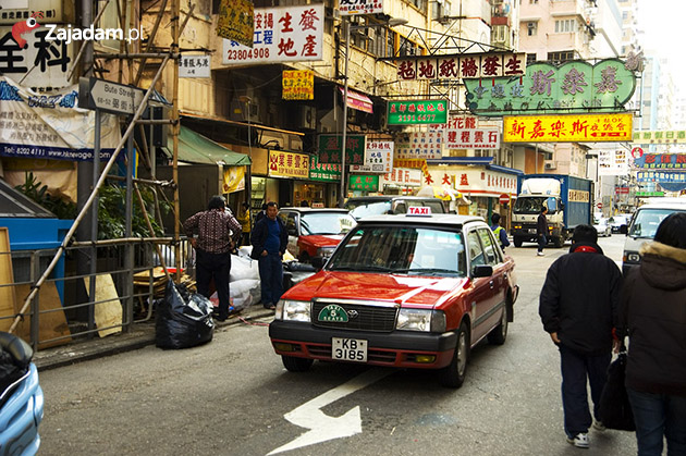
M 169 157 L 173 157 L 172 147 L 173 145 L 170 137 L 167 147 L 164 147 L 164 151 Z M 223 162 L 229 167 L 250 164 L 250 158 L 248 156 L 234 152 L 183 125 L 179 133 L 179 161 L 211 164 Z

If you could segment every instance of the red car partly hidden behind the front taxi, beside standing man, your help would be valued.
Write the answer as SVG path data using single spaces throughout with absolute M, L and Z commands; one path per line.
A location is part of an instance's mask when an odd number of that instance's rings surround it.
M 356 223 L 347 209 L 283 208 L 279 217 L 289 232 L 289 251 L 301 262 L 329 258 Z

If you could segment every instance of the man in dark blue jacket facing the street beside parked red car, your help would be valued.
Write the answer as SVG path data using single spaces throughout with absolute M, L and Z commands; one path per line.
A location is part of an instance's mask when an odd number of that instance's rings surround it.
M 283 294 L 283 254 L 289 245 L 289 233 L 277 215 L 277 204 L 267 204 L 267 214 L 253 229 L 250 257 L 258 261 L 262 305 L 266 309 L 275 309 Z

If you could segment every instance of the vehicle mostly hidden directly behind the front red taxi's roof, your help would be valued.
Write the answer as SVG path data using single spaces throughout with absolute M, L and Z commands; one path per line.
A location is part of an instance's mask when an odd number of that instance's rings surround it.
M 445 213 L 443 201 L 438 198 L 422 196 L 360 196 L 348 198 L 345 201 L 345 209 L 351 211 L 356 220 L 370 215 L 381 215 L 384 213 L 406 213 L 407 208 L 417 206 L 428 206 L 432 213 Z

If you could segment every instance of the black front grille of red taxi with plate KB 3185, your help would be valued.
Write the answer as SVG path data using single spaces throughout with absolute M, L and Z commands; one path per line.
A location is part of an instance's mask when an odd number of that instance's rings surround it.
M 395 307 L 336 303 L 347 313 L 347 321 L 319 321 L 319 312 L 331 303 L 315 301 L 313 324 L 319 328 L 391 332 L 395 329 Z

